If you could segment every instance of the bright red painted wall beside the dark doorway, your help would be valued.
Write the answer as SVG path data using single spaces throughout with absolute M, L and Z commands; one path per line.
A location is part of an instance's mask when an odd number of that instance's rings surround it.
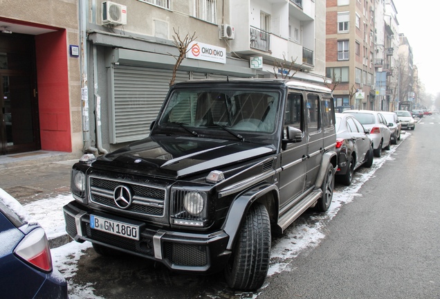
M 66 30 L 35 37 L 42 149 L 72 152 Z

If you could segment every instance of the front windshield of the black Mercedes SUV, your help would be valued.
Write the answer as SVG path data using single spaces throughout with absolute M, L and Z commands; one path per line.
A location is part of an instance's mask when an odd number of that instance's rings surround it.
M 243 132 L 275 132 L 279 91 L 176 90 L 167 102 L 159 125 Z

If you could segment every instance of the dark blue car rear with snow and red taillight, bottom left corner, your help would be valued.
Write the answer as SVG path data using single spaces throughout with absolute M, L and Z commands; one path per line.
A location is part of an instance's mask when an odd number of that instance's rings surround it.
M 68 298 L 44 229 L 0 188 L 1 298 Z

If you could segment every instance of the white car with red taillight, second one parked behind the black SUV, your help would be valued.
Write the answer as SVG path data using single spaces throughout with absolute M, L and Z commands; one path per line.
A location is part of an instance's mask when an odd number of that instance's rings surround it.
M 346 110 L 342 113 L 351 114 L 365 129 L 369 129 L 369 137 L 373 141 L 374 156 L 380 157 L 382 149 L 389 149 L 391 145 L 391 130 L 385 117 L 380 111 Z

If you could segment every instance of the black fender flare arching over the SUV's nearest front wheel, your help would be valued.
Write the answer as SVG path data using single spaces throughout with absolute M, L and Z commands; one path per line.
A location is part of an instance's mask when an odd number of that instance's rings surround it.
M 246 213 L 248 212 L 250 206 L 252 206 L 252 204 L 257 201 L 259 197 L 262 197 L 269 192 L 275 192 L 274 205 L 278 207 L 278 187 L 276 185 L 268 183 L 263 185 L 256 185 L 253 188 L 246 190 L 244 193 L 239 194 L 239 196 L 234 201 L 232 201 L 232 204 L 228 211 L 228 215 L 226 216 L 226 221 L 223 224 L 223 230 L 226 234 L 229 235 L 228 245 L 226 246 L 227 250 L 232 250 L 232 246 L 234 245 L 235 239 L 237 238 L 237 235 L 239 233 L 241 222 L 246 216 Z M 265 206 L 266 208 L 268 208 L 267 205 Z M 278 214 L 278 209 L 276 208 L 275 210 L 276 214 Z M 275 219 L 277 219 L 277 217 L 278 215 L 276 215 Z

